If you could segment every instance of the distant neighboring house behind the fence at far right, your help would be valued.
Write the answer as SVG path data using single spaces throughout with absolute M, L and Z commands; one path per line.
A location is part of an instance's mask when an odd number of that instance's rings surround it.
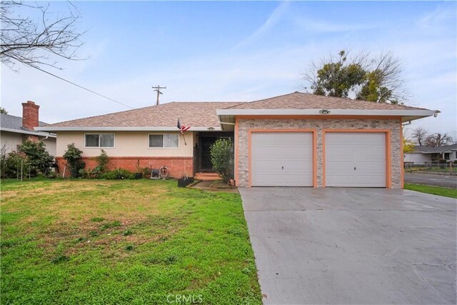
M 414 146 L 414 151 L 404 154 L 405 163 L 421 164 L 440 160 L 456 161 L 457 144 L 439 147 Z

